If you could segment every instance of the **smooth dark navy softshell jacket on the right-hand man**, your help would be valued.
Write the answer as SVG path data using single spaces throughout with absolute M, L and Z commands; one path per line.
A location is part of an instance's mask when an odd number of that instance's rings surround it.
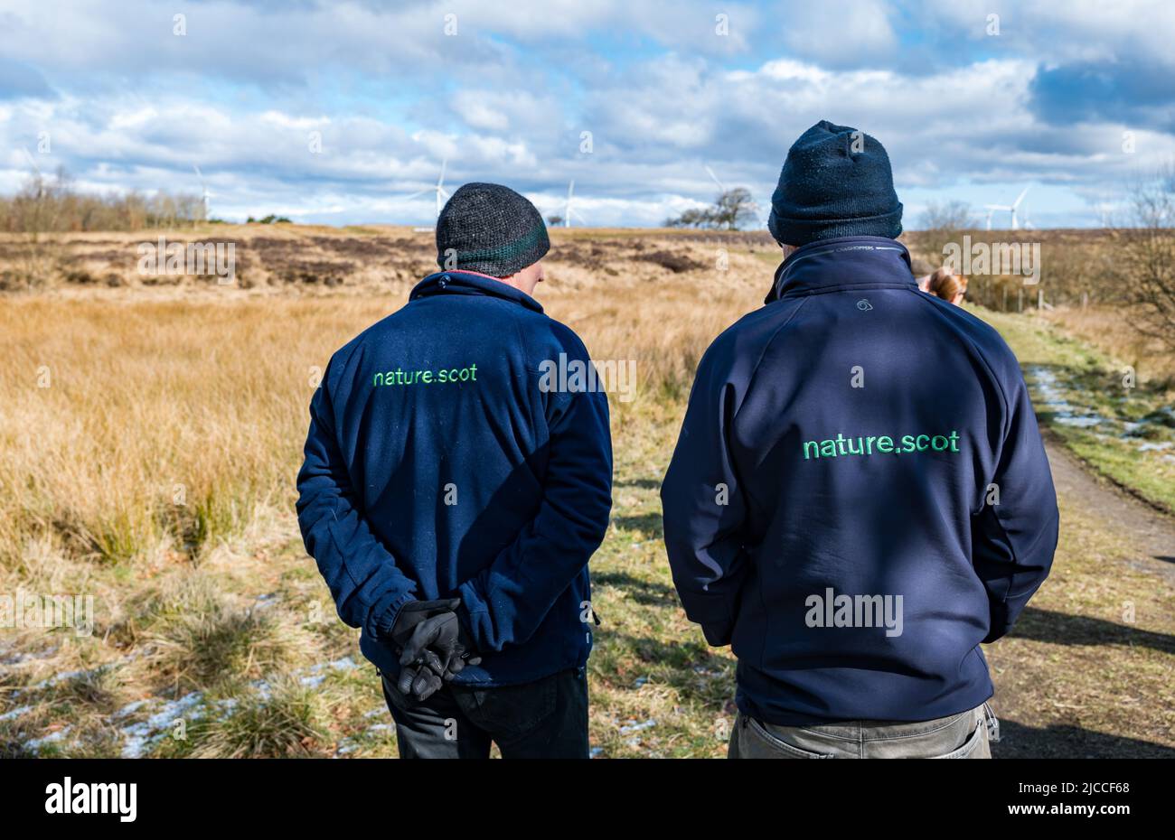
M 873 236 L 794 251 L 714 341 L 662 500 L 687 616 L 785 726 L 980 705 L 1056 547 L 1015 357 Z

